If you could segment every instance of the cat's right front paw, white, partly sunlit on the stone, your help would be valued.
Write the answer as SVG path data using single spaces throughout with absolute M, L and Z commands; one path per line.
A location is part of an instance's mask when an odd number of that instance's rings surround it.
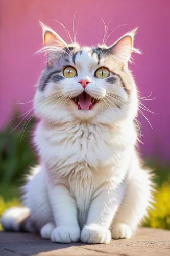
M 81 241 L 87 244 L 104 244 L 110 240 L 110 230 L 96 224 L 85 226 L 81 233 Z

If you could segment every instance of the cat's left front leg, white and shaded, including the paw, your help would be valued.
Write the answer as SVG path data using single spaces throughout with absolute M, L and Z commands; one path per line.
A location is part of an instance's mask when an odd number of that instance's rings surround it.
M 80 239 L 75 199 L 64 184 L 48 186 L 56 228 L 52 231 L 52 242 L 71 243 Z

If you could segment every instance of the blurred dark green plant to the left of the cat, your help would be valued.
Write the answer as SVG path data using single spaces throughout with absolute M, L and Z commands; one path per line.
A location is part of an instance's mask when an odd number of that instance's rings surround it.
M 35 118 L 25 122 L 23 127 L 18 117 L 19 113 L 15 111 L 13 119 L 0 132 L 0 181 L 3 184 L 20 182 L 23 174 L 36 163 L 36 156 L 30 148 Z

